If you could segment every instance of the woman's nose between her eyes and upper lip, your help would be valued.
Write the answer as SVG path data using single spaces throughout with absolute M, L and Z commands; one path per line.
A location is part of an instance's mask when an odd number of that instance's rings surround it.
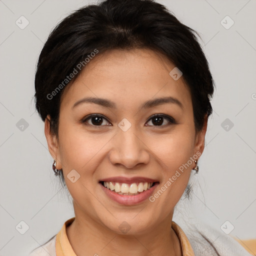
M 121 164 L 126 168 L 134 168 L 139 163 L 149 162 L 149 149 L 143 142 L 141 133 L 137 132 L 133 125 L 126 131 L 117 131 L 113 137 L 109 159 L 112 164 Z

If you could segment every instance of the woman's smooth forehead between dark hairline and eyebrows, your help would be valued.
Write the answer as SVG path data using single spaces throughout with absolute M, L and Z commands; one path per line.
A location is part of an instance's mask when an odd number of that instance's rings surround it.
M 169 74 L 174 67 L 164 55 L 149 49 L 99 52 L 65 88 L 61 104 L 71 106 L 83 96 L 127 104 L 130 99 L 141 102 L 168 95 L 178 97 L 183 105 L 190 104 L 183 77 L 174 80 Z

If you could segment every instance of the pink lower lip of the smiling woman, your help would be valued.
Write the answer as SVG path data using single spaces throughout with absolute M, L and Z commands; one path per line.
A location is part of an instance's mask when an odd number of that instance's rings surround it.
M 155 187 L 158 185 L 158 183 L 155 183 L 149 189 L 135 195 L 123 195 L 113 192 L 112 190 L 104 187 L 101 183 L 99 184 L 110 199 L 123 205 L 134 205 L 146 200 L 153 193 Z

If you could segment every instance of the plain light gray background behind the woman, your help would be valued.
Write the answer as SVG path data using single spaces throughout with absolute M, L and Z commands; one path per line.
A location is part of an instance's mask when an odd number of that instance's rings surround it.
M 256 2 L 159 2 L 201 34 L 217 87 L 194 177 L 192 214 L 216 228 L 228 220 L 234 225 L 230 235 L 256 238 Z M 34 112 L 33 79 L 50 30 L 87 3 L 0 0 L 0 255 L 26 255 L 73 216 L 51 169 L 43 122 Z M 24 29 L 15 24 L 21 15 L 29 21 Z M 226 15 L 234 21 L 229 29 L 220 23 Z M 21 118 L 28 123 L 23 131 L 16 127 Z M 221 126 L 226 118 L 234 124 L 228 131 Z M 29 226 L 23 235 L 15 229 L 21 220 Z

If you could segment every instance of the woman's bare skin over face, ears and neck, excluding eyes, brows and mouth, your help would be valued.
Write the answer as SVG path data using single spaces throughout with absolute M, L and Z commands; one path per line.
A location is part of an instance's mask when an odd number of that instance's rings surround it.
M 62 168 L 73 198 L 75 220 L 67 227 L 67 236 L 77 256 L 181 255 L 170 223 L 194 162 L 154 202 L 118 204 L 98 183 L 111 176 L 143 176 L 158 180 L 159 189 L 189 157 L 202 153 L 207 118 L 196 133 L 190 92 L 182 76 L 174 80 L 169 75 L 173 67 L 165 56 L 149 49 L 99 53 L 61 96 L 58 138 L 50 134 L 45 119 L 49 152 L 57 159 L 56 168 Z M 109 99 L 116 109 L 95 103 L 72 108 L 87 96 Z M 176 103 L 139 108 L 165 96 L 178 99 L 182 108 Z M 94 113 L 106 118 L 101 126 L 93 118 L 81 122 Z M 157 126 L 150 119 L 153 114 L 169 115 L 176 123 L 164 117 Z M 131 123 L 125 132 L 118 127 L 123 118 Z M 66 177 L 72 169 L 80 174 L 74 183 Z M 123 221 L 130 226 L 125 234 L 118 228 Z

